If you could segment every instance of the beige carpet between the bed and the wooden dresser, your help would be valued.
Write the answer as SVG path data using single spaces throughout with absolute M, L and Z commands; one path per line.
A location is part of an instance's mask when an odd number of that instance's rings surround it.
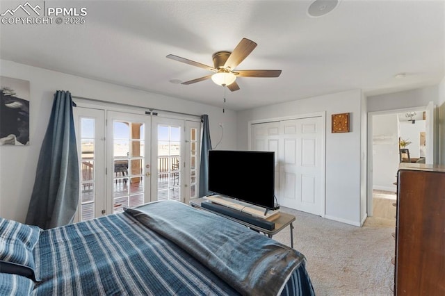
M 282 208 L 296 216 L 294 248 L 307 258 L 316 295 L 393 295 L 395 220 L 369 217 L 364 227 Z M 273 238 L 290 245 L 289 227 Z

